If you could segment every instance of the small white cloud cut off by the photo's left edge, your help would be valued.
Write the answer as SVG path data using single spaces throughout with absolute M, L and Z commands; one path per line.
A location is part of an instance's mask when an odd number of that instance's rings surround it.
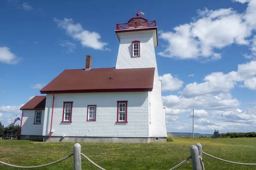
M 0 47 L 0 62 L 6 64 L 17 64 L 20 58 L 15 56 L 8 47 Z

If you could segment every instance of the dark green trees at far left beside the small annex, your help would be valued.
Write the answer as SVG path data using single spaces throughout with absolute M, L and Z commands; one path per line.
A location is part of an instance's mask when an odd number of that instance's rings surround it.
M 20 134 L 20 125 L 11 123 L 9 126 L 4 127 L 0 122 L 0 138 L 18 138 Z

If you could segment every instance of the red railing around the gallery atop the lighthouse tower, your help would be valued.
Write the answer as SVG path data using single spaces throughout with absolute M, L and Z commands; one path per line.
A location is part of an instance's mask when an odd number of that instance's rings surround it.
M 156 21 L 144 21 L 144 22 L 137 22 L 137 23 L 123 23 L 123 24 L 116 24 L 116 30 L 143 28 L 143 27 L 156 27 L 156 26 L 157 26 Z

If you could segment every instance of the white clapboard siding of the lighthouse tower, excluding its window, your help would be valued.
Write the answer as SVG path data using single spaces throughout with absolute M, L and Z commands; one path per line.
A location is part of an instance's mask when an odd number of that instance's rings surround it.
M 157 62 L 154 51 L 154 31 L 136 31 L 119 33 L 120 45 L 116 68 L 155 68 L 154 87 L 151 92 L 151 124 L 149 136 L 167 136 L 165 113 L 163 111 L 163 101 L 161 87 L 159 83 Z M 140 57 L 131 57 L 131 42 L 140 41 Z

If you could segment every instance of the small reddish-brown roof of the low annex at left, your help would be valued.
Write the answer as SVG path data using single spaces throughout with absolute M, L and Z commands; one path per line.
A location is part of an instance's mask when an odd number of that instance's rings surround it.
M 36 110 L 45 108 L 46 96 L 35 96 L 23 105 L 20 110 Z

